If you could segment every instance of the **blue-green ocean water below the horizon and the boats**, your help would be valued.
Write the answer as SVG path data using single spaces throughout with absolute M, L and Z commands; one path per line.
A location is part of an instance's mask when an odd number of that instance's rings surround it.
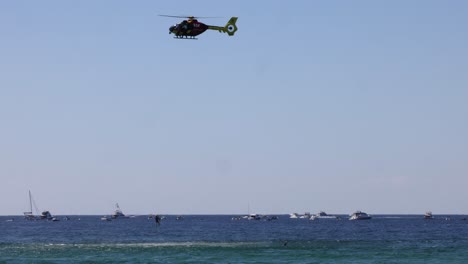
M 468 263 L 464 216 L 231 220 L 146 216 L 101 221 L 0 217 L 0 263 Z M 12 221 L 13 220 L 13 221 Z

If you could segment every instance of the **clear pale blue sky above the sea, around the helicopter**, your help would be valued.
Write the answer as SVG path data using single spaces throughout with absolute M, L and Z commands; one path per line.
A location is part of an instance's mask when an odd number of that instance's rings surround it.
M 238 16 L 234 37 L 168 34 Z M 468 213 L 467 1 L 1 1 L 0 214 Z

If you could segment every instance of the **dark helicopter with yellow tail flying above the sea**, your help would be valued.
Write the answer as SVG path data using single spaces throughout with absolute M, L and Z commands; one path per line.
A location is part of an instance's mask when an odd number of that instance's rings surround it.
M 174 34 L 176 39 L 197 39 L 196 36 L 205 32 L 207 29 L 218 30 L 221 33 L 227 33 L 229 36 L 234 36 L 234 33 L 237 31 L 237 17 L 231 17 L 227 24 L 222 26 L 210 26 L 199 22 L 198 18 L 207 18 L 207 17 L 194 17 L 194 16 L 168 16 L 160 15 L 164 17 L 177 17 L 177 18 L 187 18 L 178 24 L 175 24 L 169 28 L 169 34 Z

